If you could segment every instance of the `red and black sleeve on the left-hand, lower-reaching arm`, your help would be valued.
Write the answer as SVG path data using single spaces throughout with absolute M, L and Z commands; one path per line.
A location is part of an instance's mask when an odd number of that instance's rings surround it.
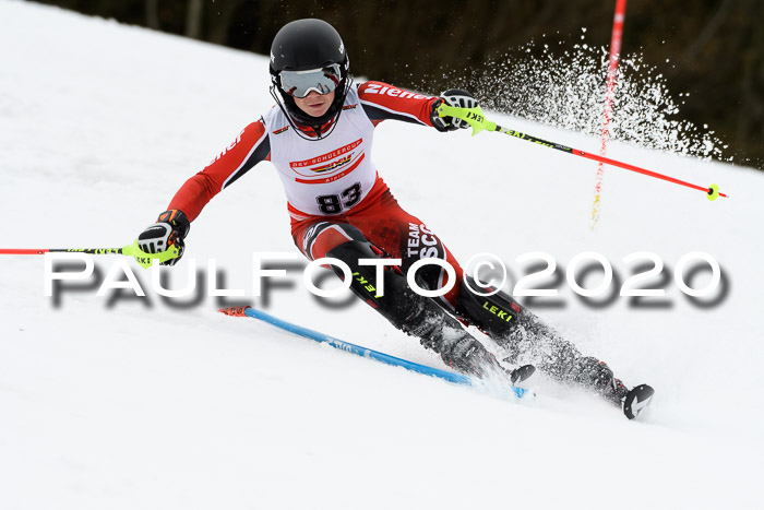
M 180 187 L 167 209 L 178 209 L 193 222 L 213 197 L 270 157 L 271 143 L 265 126 L 262 120 L 252 122 L 202 171 Z

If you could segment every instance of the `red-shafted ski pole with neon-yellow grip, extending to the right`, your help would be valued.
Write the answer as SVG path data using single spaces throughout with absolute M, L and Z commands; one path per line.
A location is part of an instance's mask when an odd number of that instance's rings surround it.
M 502 128 L 496 122 L 491 122 L 490 120 L 488 120 L 479 106 L 475 108 L 456 108 L 449 105 L 440 105 L 438 107 L 438 115 L 440 115 L 441 117 L 456 117 L 458 119 L 465 120 L 473 127 L 473 137 L 479 133 L 480 131 L 498 131 L 500 133 L 509 134 L 510 137 L 514 137 L 521 140 L 527 140 L 528 142 L 544 145 L 545 147 L 557 149 L 558 151 L 562 151 L 568 154 L 573 154 L 574 156 L 586 157 L 588 159 L 606 163 L 608 165 L 617 166 L 626 170 L 636 171 L 637 174 L 655 177 L 656 179 L 662 179 L 668 182 L 673 182 L 675 185 L 681 185 L 688 188 L 696 189 L 706 193 L 708 200 L 711 201 L 714 201 L 719 197 L 727 197 L 727 194 L 719 192 L 718 185 L 711 185 L 708 188 L 704 188 L 702 186 L 693 185 L 691 182 L 685 182 L 683 180 L 675 179 L 673 177 L 658 174 L 657 171 L 640 168 L 638 166 L 630 165 L 628 163 L 621 163 L 609 157 L 590 154 L 588 152 L 584 152 L 578 149 L 572 149 L 557 142 L 549 142 L 540 138 L 533 137 L 530 134 L 521 133 L 520 131 L 515 131 L 513 129 Z

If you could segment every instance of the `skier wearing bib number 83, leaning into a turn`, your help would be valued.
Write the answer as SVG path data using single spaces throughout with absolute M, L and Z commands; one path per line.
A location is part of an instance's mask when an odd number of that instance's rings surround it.
M 291 216 L 291 235 L 310 260 L 344 261 L 356 275 L 350 288 L 395 328 L 420 340 L 456 370 L 484 377 L 503 368 L 463 323 L 479 328 L 511 355 L 512 365 L 533 363 L 554 379 L 596 391 L 621 405 L 628 393 L 610 368 L 582 354 L 512 297 L 499 292 L 482 297 L 440 237 L 404 211 L 378 175 L 369 154 L 374 128 L 394 119 L 447 132 L 468 124 L 440 117 L 437 107 L 471 108 L 467 92 L 450 90 L 431 97 L 369 81 L 354 84 L 339 34 L 315 19 L 288 23 L 271 49 L 271 94 L 276 102 L 262 118 L 247 126 L 226 150 L 182 185 L 168 210 L 139 236 L 151 253 L 171 246 L 183 253 L 190 224 L 219 191 L 258 163 L 276 167 Z M 375 268 L 359 259 L 402 259 L 386 265 L 384 296 L 377 296 Z M 441 298 L 423 297 L 406 283 L 405 274 L 420 259 L 445 260 L 456 282 Z M 333 268 L 342 276 L 342 272 Z M 428 264 L 417 272 L 427 289 L 449 283 L 443 268 Z M 515 371 L 513 381 L 526 373 Z

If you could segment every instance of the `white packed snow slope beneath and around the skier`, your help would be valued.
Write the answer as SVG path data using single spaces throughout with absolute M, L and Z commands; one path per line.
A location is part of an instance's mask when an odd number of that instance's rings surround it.
M 0 1 L 0 47 L 3 248 L 131 242 L 272 106 L 265 57 L 58 9 Z M 597 151 L 597 140 L 492 117 Z M 626 383 L 656 388 L 642 423 L 542 379 L 537 399 L 518 403 L 380 365 L 225 317 L 204 294 L 172 306 L 132 261 L 147 296 L 98 297 L 106 273 L 127 260 L 116 256 L 98 257 L 99 280 L 57 304 L 44 295 L 43 257 L 0 256 L 0 508 L 756 507 L 764 176 L 617 143 L 608 155 L 717 182 L 731 198 L 711 203 L 608 168 L 590 232 L 596 165 L 586 159 L 393 121 L 378 128 L 373 158 L 403 206 L 457 258 L 504 260 L 509 292 L 532 264 L 518 256 L 551 254 L 563 274 L 559 306 L 521 300 Z M 218 286 L 246 294 L 227 303 L 443 367 L 366 306 L 320 305 L 298 281 L 301 266 L 267 303 L 251 295 L 253 252 L 296 253 L 267 163 L 208 204 L 187 246 L 172 288 L 188 281 L 191 260 L 206 274 L 215 259 Z M 618 285 L 634 269 L 624 257 L 656 253 L 666 277 L 644 286 L 666 296 L 587 305 L 564 278 L 583 251 L 606 257 Z M 693 251 L 723 273 L 724 292 L 700 305 L 673 278 Z M 709 274 L 687 280 L 701 288 Z M 580 280 L 592 288 L 601 275 Z

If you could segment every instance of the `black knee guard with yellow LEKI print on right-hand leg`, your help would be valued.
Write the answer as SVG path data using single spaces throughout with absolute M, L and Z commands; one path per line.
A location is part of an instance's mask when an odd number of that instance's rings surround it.
M 479 296 L 470 287 L 480 288 L 475 278 L 465 275 L 456 298 L 456 313 L 493 339 L 506 336 L 520 322 L 520 304 L 501 290 L 491 296 Z

